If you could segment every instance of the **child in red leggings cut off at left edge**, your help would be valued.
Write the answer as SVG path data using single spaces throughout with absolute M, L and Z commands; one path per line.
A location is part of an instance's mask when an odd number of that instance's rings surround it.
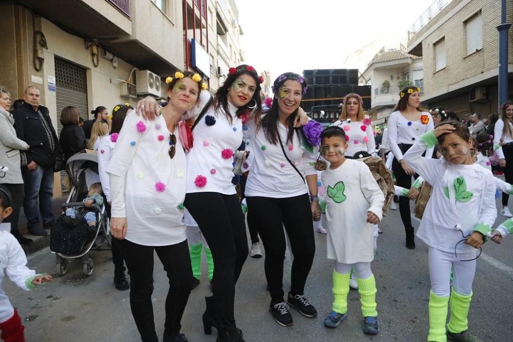
M 5 186 L 0 185 L 0 226 L 4 225 L 2 221 L 12 213 L 11 202 L 11 193 Z M 25 327 L 2 290 L 5 273 L 7 272 L 14 284 L 26 291 L 51 281 L 52 276 L 45 273 L 36 274 L 35 271 L 27 268 L 25 252 L 16 238 L 9 233 L 10 224 L 5 225 L 7 225 L 5 229 L 0 229 L 0 330 L 2 330 L 4 341 L 25 341 L 23 336 Z

